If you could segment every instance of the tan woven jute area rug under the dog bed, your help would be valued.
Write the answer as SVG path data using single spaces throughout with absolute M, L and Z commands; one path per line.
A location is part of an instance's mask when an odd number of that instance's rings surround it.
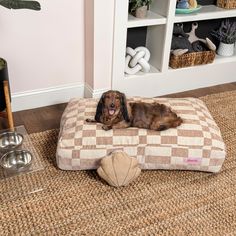
M 44 169 L 0 181 L 0 234 L 236 235 L 236 91 L 201 99 L 227 145 L 220 173 L 143 171 L 113 188 L 56 168 L 58 130 L 32 134 Z

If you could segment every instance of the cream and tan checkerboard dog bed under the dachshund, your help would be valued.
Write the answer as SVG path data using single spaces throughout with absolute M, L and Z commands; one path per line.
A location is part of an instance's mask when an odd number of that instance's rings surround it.
M 225 159 L 219 128 L 205 104 L 196 98 L 140 98 L 170 106 L 183 124 L 166 131 L 138 128 L 104 131 L 94 118 L 97 99 L 72 99 L 66 107 L 57 147 L 57 164 L 64 170 L 96 169 L 114 150 L 136 157 L 142 169 L 180 169 L 218 172 Z

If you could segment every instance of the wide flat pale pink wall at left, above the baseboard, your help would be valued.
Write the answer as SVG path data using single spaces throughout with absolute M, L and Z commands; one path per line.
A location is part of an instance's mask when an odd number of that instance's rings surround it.
M 0 7 L 0 57 L 13 93 L 84 83 L 84 0 L 39 2 L 41 11 Z

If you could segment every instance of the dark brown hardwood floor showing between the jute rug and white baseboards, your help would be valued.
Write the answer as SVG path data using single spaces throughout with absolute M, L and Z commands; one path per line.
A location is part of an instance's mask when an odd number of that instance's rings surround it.
M 164 97 L 201 97 L 208 94 L 236 90 L 236 82 L 213 87 L 201 88 Z M 15 126 L 24 125 L 28 133 L 41 132 L 59 128 L 61 115 L 66 104 L 41 107 L 14 113 Z M 7 128 L 7 122 L 0 117 L 0 130 Z

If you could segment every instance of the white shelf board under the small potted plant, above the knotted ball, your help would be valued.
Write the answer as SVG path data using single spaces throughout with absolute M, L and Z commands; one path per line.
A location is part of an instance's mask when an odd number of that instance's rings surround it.
M 137 18 L 129 14 L 128 16 L 128 28 L 150 26 L 150 25 L 164 25 L 166 24 L 166 17 L 156 14 L 152 11 L 148 11 L 147 17 L 144 19 Z

